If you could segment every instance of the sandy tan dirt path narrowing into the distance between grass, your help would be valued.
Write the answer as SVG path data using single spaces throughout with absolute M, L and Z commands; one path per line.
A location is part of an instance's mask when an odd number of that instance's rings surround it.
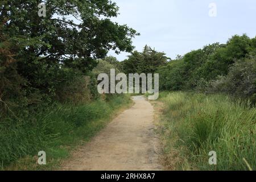
M 91 142 L 80 147 L 63 170 L 161 170 L 159 142 L 154 132 L 154 108 L 143 96 Z

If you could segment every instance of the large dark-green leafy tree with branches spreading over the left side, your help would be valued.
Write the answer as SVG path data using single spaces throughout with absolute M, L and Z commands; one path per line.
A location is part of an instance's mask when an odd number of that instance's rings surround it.
M 44 1 L 46 17 L 38 15 L 40 2 L 0 3 L 2 113 L 15 105 L 27 108 L 64 99 L 56 96 L 61 86 L 74 86 L 76 78 L 90 75 L 96 59 L 110 49 L 134 48 L 131 39 L 137 32 L 110 20 L 118 7 L 109 0 Z

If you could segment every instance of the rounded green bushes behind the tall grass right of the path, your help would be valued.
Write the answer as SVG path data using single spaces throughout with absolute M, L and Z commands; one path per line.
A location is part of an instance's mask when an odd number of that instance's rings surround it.
M 160 89 L 224 92 L 255 101 L 256 38 L 235 35 L 160 67 Z

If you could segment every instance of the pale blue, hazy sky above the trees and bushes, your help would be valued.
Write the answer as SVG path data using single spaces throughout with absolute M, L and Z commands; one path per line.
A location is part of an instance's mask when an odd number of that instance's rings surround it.
M 112 20 L 127 24 L 141 36 L 133 39 L 138 51 L 147 44 L 157 51 L 176 55 L 207 44 L 225 43 L 232 35 L 256 36 L 255 0 L 114 0 L 119 16 Z M 217 16 L 209 16 L 209 4 L 216 3 Z M 119 61 L 129 53 L 115 55 Z

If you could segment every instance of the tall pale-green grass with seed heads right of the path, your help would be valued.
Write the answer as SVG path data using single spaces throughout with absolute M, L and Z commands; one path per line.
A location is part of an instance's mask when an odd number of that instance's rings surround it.
M 164 166 L 175 170 L 256 169 L 256 108 L 221 94 L 160 93 Z M 217 165 L 209 165 L 209 152 Z

